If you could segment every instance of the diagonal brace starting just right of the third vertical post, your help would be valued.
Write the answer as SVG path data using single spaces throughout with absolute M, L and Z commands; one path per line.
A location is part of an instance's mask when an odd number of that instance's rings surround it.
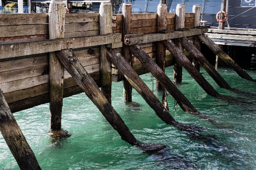
M 141 63 L 157 78 L 163 87 L 172 95 L 172 97 L 180 105 L 181 109 L 185 112 L 199 115 L 197 109 L 188 101 L 188 99 L 180 92 L 180 90 L 172 83 L 169 77 L 160 69 L 159 66 L 149 57 L 147 53 L 140 48 L 139 45 L 129 46 L 131 52 L 136 56 Z

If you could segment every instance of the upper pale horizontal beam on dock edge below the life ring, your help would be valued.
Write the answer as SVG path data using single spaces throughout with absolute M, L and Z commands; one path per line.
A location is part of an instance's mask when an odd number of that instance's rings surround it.
M 256 36 L 252 36 L 252 35 L 230 35 L 230 34 L 212 34 L 212 33 L 205 33 L 205 35 L 209 38 L 256 41 Z

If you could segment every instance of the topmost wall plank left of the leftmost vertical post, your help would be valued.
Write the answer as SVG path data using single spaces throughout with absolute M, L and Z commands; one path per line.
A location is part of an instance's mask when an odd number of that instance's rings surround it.
M 49 23 L 48 14 L 1 14 L 0 26 Z

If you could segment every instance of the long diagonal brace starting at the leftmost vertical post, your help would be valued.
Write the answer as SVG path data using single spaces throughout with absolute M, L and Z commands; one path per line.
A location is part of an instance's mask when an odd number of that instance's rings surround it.
M 93 81 L 93 78 L 86 72 L 83 66 L 71 50 L 62 50 L 56 52 L 61 64 L 68 70 L 70 75 L 76 80 L 77 84 L 83 89 L 85 94 L 93 101 L 93 104 L 102 112 L 102 115 L 108 120 L 111 126 L 119 133 L 124 141 L 129 144 L 136 144 L 136 138 L 128 127 L 124 124 L 120 116 L 113 109 L 107 98 L 99 90 L 99 87 Z

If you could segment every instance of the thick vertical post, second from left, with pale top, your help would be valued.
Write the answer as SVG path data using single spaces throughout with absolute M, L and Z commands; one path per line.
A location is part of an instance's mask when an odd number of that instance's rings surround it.
M 112 33 L 112 6 L 111 3 L 101 3 L 99 6 L 100 35 Z M 111 62 L 106 57 L 106 45 L 100 46 L 100 78 L 101 90 L 111 104 Z

